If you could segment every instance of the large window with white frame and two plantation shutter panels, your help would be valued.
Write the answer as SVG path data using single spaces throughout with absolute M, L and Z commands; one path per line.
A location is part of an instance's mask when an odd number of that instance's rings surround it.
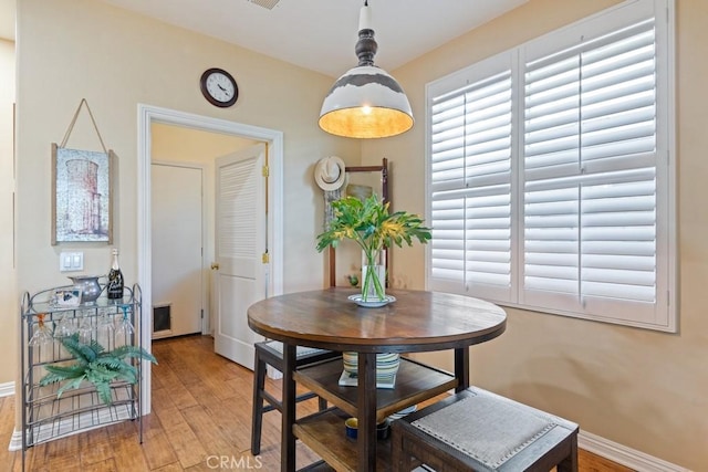
M 430 289 L 676 329 L 669 3 L 428 84 Z

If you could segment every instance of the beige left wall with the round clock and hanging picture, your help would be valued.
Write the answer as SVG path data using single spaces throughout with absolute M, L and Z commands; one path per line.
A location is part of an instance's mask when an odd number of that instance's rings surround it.
M 231 108 L 214 107 L 199 92 L 199 76 L 217 65 L 239 82 L 239 102 Z M 64 282 L 56 269 L 62 247 L 49 244 L 49 149 L 61 141 L 82 97 L 118 158 L 114 245 L 128 281 L 137 274 L 137 105 L 144 103 L 283 132 L 285 290 L 322 285 L 323 258 L 313 243 L 321 218 L 313 207 L 321 208 L 322 196 L 312 166 L 330 154 L 357 164 L 360 155 L 358 143 L 330 137 L 316 126 L 331 77 L 87 0 L 20 2 L 18 70 L 20 287 Z M 85 114 L 69 146 L 98 147 Z M 85 252 L 85 272 L 105 272 L 108 248 L 74 245 Z

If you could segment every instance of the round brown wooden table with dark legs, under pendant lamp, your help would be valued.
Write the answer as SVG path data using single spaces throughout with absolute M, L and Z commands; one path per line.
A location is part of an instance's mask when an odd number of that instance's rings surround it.
M 352 350 L 358 356 L 357 470 L 376 468 L 376 353 L 455 349 L 456 389 L 469 387 L 469 349 L 501 335 L 507 315 L 499 306 L 449 293 L 389 290 L 394 303 L 357 306 L 352 289 L 327 289 L 273 296 L 248 308 L 254 332 L 281 340 L 283 347 L 283 471 L 295 466 L 295 347 Z

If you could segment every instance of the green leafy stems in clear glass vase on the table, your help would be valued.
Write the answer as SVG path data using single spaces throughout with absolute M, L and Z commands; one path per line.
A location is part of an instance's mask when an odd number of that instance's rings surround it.
M 377 275 L 374 268 L 381 252 L 394 244 L 402 248 L 405 242 L 413 245 L 414 240 L 427 243 L 430 229 L 423 225 L 418 214 L 406 211 L 388 212 L 388 202 L 384 203 L 376 195 L 364 201 L 355 197 L 345 197 L 332 202 L 334 218 L 326 231 L 317 235 L 317 251 L 326 247 L 336 248 L 343 239 L 355 241 L 362 248 L 362 298 L 366 302 L 372 295 L 378 301 L 385 298 L 385 276 Z

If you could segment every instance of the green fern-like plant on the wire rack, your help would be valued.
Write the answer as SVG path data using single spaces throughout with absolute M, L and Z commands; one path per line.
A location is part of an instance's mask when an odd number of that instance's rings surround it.
M 128 384 L 135 384 L 137 381 L 137 367 L 126 359 L 146 359 L 157 364 L 155 356 L 142 347 L 125 345 L 106 352 L 95 339 L 92 339 L 90 344 L 82 343 L 79 339 L 79 333 L 63 337 L 62 345 L 74 356 L 76 361 L 65 366 L 44 366 L 49 374 L 40 380 L 42 387 L 66 381 L 56 391 L 56 398 L 60 398 L 64 391 L 79 388 L 83 381 L 87 381 L 96 387 L 98 398 L 104 403 L 111 405 L 111 382 L 125 380 Z

